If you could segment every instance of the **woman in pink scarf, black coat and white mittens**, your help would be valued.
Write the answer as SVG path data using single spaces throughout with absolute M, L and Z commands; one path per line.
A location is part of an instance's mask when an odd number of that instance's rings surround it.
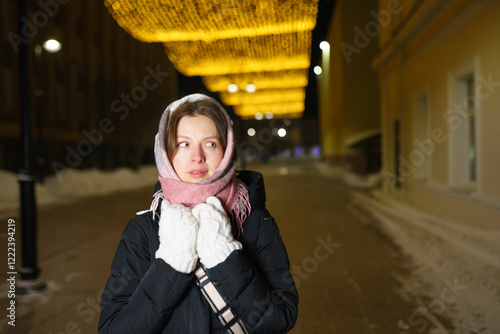
M 235 175 L 231 121 L 193 94 L 165 110 L 150 210 L 125 228 L 99 333 L 285 333 L 298 295 L 262 175 Z

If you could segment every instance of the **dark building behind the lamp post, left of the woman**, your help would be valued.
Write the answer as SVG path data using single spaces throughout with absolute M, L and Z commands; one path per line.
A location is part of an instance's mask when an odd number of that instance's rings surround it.
M 160 43 L 135 40 L 100 1 L 0 2 L 0 169 L 20 168 L 19 57 L 30 49 L 30 105 L 37 173 L 153 162 L 153 135 L 178 95 L 177 72 Z M 49 53 L 44 41 L 62 48 Z

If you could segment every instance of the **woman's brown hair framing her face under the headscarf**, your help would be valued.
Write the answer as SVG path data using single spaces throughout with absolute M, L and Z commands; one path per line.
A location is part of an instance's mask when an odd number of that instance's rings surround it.
M 178 106 L 170 115 L 170 119 L 165 129 L 165 148 L 167 157 L 172 163 L 172 158 L 177 151 L 177 125 L 181 118 L 185 116 L 206 116 L 210 118 L 217 128 L 217 135 L 222 146 L 222 152 L 226 151 L 227 130 L 230 124 L 227 124 L 226 116 L 217 102 L 210 99 L 198 100 L 195 102 L 186 102 Z M 233 149 L 233 158 L 236 160 L 236 145 Z

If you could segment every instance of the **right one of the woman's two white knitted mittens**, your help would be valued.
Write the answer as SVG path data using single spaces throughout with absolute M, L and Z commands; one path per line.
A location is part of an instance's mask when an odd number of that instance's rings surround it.
M 207 198 L 206 203 L 196 205 L 192 211 L 200 224 L 196 249 L 205 267 L 215 267 L 242 248 L 233 238 L 231 223 L 217 197 Z

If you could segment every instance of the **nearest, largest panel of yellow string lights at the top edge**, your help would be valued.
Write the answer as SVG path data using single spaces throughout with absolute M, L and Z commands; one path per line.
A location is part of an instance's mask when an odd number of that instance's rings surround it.
M 105 0 L 118 24 L 143 42 L 206 41 L 311 31 L 317 1 Z

